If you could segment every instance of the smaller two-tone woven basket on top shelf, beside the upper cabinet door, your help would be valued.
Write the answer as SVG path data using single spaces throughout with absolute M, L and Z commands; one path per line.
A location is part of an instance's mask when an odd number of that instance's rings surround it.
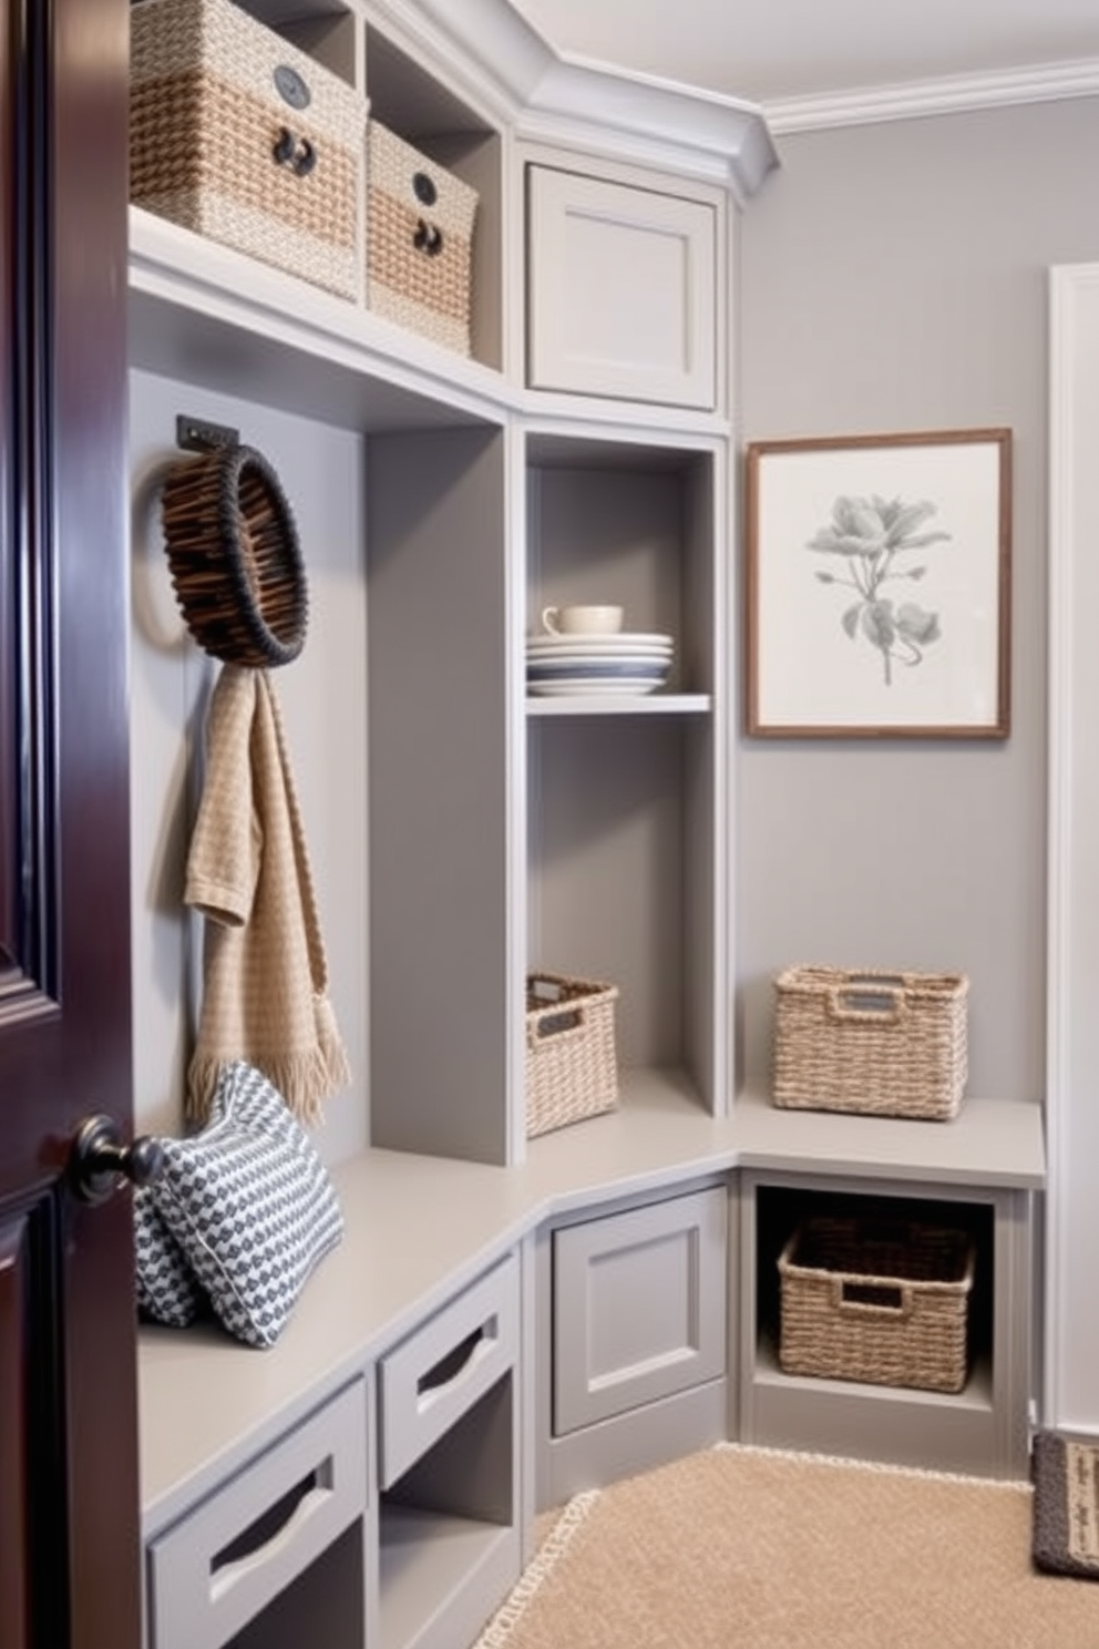
M 367 157 L 369 307 L 468 355 L 476 190 L 377 120 Z

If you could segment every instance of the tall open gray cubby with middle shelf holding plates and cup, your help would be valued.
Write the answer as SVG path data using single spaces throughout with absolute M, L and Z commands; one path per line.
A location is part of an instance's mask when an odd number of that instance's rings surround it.
M 611 602 L 676 648 L 654 693 L 527 694 L 529 965 L 618 986 L 624 1092 L 631 1070 L 685 1073 L 720 1113 L 722 453 L 545 430 L 526 453 L 527 632 L 545 605 Z

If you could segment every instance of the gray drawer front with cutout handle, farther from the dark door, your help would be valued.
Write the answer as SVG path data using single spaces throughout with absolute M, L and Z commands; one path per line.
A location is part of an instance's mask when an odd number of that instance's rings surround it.
M 519 1261 L 509 1255 L 381 1360 L 379 1484 L 390 1489 L 519 1347 Z

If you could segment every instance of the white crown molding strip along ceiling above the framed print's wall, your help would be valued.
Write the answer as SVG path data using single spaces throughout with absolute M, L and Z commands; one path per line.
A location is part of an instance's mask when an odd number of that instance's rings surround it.
M 768 129 L 779 135 L 1094 96 L 1099 96 L 1099 58 L 1084 58 L 1027 69 L 949 74 L 911 84 L 783 97 L 763 102 L 761 109 Z

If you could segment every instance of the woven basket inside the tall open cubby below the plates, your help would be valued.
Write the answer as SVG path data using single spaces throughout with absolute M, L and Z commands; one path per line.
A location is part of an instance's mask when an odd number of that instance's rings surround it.
M 527 976 L 527 1136 L 618 1105 L 616 984 Z

